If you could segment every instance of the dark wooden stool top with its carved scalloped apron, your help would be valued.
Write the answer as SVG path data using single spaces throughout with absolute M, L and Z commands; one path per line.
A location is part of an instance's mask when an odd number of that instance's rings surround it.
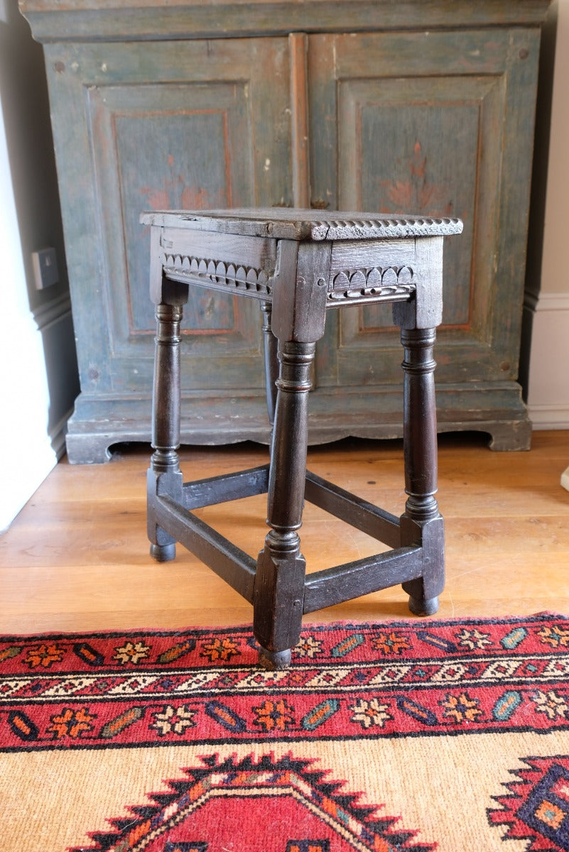
M 463 230 L 453 218 L 283 207 L 164 210 L 141 222 L 152 226 L 155 304 L 164 279 L 271 302 L 273 331 L 290 340 L 322 337 L 327 308 L 371 302 L 413 298 L 397 323 L 439 325 L 443 239 Z

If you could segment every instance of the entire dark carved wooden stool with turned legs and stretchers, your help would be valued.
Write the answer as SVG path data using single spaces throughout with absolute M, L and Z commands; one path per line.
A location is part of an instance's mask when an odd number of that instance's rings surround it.
M 438 609 L 445 544 L 437 490 L 433 347 L 442 317 L 443 240 L 458 219 L 322 210 L 152 212 L 151 296 L 157 337 L 148 471 L 148 536 L 158 561 L 180 542 L 252 603 L 260 661 L 283 668 L 302 615 L 402 584 L 417 615 Z M 190 287 L 260 302 L 270 463 L 184 483 L 180 322 Z M 405 513 L 377 508 L 306 469 L 308 392 L 329 310 L 393 302 L 403 346 Z M 270 531 L 257 560 L 193 509 L 267 493 Z M 377 556 L 306 574 L 298 529 L 304 500 L 388 545 Z

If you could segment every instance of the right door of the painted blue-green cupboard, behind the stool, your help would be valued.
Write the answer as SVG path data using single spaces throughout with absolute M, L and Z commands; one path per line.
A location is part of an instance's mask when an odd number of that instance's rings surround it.
M 538 46 L 523 29 L 310 39 L 313 205 L 463 218 L 445 244 L 439 388 L 519 395 Z M 319 384 L 399 383 L 389 312 L 340 313 Z

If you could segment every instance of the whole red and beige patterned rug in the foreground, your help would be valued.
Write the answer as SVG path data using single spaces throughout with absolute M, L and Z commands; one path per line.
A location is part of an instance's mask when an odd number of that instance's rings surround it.
M 5 636 L 2 852 L 569 849 L 569 619 Z

